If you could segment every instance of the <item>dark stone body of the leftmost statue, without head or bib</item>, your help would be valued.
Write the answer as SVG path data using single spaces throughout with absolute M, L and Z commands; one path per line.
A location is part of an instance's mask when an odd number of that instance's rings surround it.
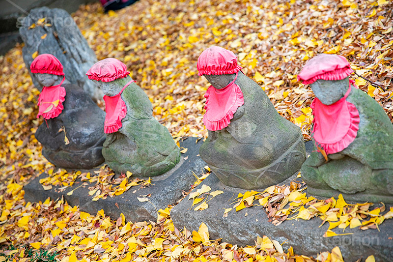
M 62 168 L 90 169 L 104 162 L 102 147 L 105 112 L 80 87 L 63 84 L 64 109 L 56 118 L 44 121 L 35 132 L 42 144 L 42 154 Z M 69 140 L 66 145 L 64 132 Z

